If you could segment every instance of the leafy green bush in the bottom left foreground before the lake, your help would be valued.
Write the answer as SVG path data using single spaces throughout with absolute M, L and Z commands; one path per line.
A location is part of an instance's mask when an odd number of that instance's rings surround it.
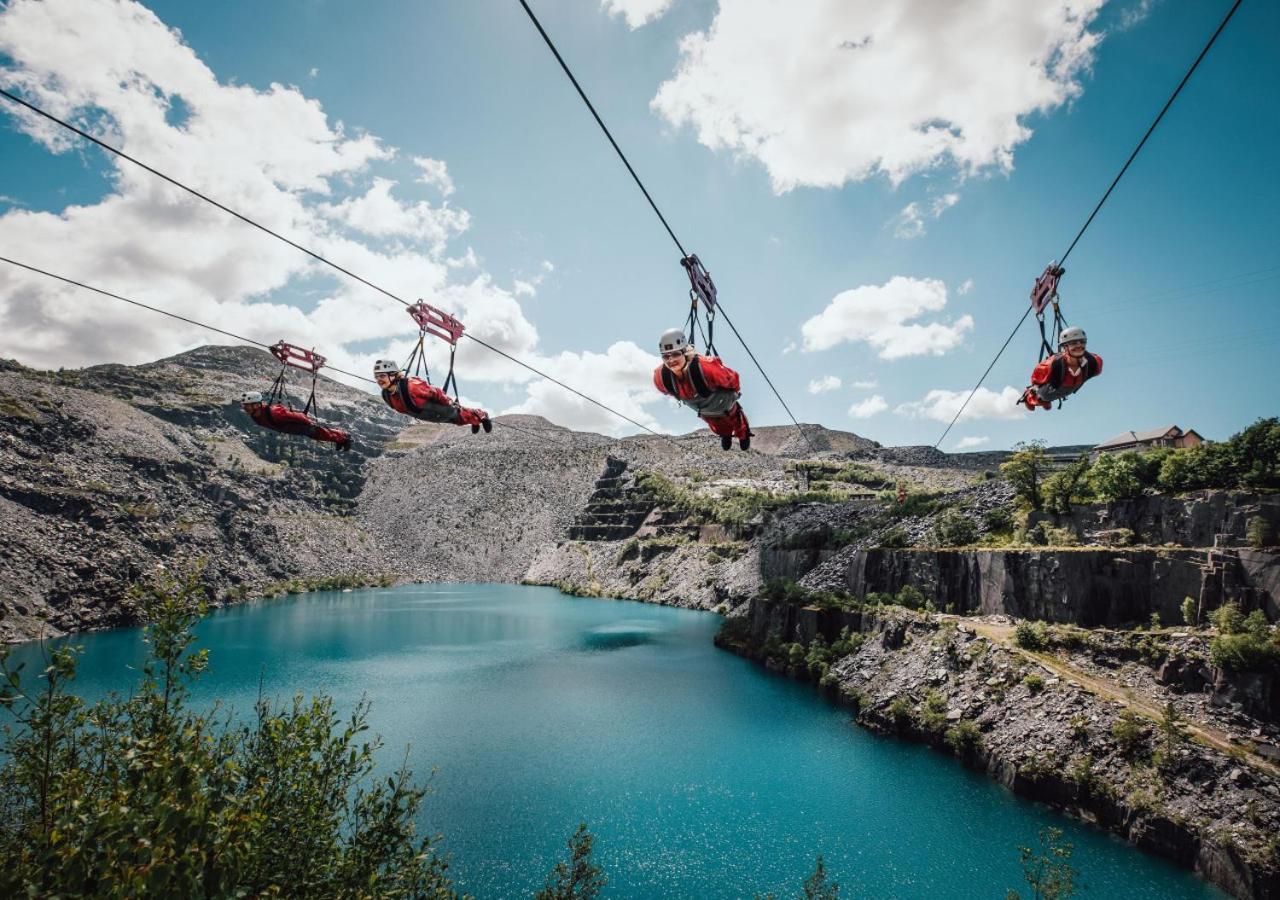
M 51 653 L 33 695 L 0 654 L 15 719 L 0 744 L 0 895 L 456 896 L 415 833 L 426 789 L 403 767 L 371 780 L 367 703 L 346 723 L 324 696 L 262 700 L 248 725 L 188 707 L 207 666 L 192 635 L 204 593 L 160 576 L 138 594 L 147 657 L 127 698 L 74 698 L 74 648 Z

